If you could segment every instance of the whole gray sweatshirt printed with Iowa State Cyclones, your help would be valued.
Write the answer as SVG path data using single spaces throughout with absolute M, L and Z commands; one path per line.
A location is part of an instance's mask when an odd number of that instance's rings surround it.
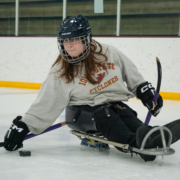
M 22 118 L 33 134 L 39 134 L 51 126 L 66 106 L 96 106 L 107 102 L 128 101 L 136 95 L 136 88 L 145 82 L 136 66 L 115 47 L 101 45 L 108 61 L 103 68 L 96 65 L 96 85 L 87 81 L 84 65 L 82 73 L 71 83 L 66 83 L 64 77 L 57 78 L 55 71 L 60 69 L 61 64 L 51 68 L 37 98 Z

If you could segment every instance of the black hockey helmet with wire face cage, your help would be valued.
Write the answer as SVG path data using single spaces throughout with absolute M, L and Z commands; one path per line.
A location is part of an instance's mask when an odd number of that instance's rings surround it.
M 78 57 L 71 57 L 64 48 L 64 41 L 78 40 L 83 42 L 84 49 Z M 82 16 L 66 17 L 58 30 L 58 48 L 62 58 L 72 64 L 78 64 L 84 61 L 90 52 L 90 44 L 92 40 L 91 27 L 88 20 Z

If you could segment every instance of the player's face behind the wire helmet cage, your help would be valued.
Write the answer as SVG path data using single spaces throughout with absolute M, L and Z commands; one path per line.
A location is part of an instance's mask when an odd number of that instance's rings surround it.
M 71 57 L 78 57 L 85 50 L 85 45 L 83 44 L 81 38 L 64 40 L 63 45 L 66 52 Z

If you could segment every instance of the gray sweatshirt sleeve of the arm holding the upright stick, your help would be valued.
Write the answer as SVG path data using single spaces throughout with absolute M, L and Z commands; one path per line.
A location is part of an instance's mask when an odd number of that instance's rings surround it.
M 144 77 L 139 73 L 135 64 L 117 49 L 116 55 L 123 81 L 127 84 L 128 90 L 136 96 L 137 87 L 145 82 Z

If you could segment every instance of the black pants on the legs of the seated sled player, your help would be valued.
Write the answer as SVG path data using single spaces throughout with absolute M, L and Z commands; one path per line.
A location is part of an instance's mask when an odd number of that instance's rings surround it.
M 114 105 L 108 107 L 110 116 L 107 116 L 105 108 L 102 108 L 95 113 L 95 121 L 97 130 L 110 141 L 119 142 L 122 144 L 130 144 L 136 147 L 136 131 L 144 125 L 142 121 L 137 118 L 137 114 L 129 106 L 120 102 L 120 107 Z M 165 127 L 169 128 L 172 133 L 172 142 L 175 143 L 180 139 L 180 119 L 170 122 Z M 159 131 L 153 133 L 152 137 L 156 136 L 155 144 L 162 147 L 162 140 Z M 169 139 L 168 133 L 165 131 L 166 141 Z M 121 150 L 120 148 L 117 148 Z

